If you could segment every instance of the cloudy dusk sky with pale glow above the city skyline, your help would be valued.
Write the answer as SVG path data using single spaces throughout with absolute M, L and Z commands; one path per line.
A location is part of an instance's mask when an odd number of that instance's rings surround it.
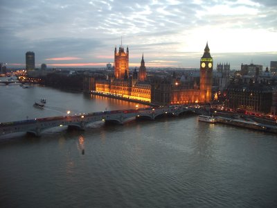
M 206 42 L 214 64 L 270 67 L 277 60 L 276 0 L 0 0 L 0 62 L 25 67 L 106 67 L 129 46 L 129 66 L 199 68 Z

